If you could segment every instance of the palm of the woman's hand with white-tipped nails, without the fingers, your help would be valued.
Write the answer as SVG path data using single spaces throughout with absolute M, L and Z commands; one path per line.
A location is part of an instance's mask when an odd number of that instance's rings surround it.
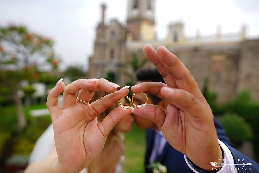
M 62 115 L 53 122 L 56 150 L 58 155 L 63 155 L 60 162 L 70 171 L 91 163 L 100 154 L 106 141 L 103 135 L 100 136 L 102 133 L 97 127 L 96 118 L 85 116 L 85 111 L 80 105 L 64 109 Z M 96 142 L 85 140 L 91 135 L 96 137 Z

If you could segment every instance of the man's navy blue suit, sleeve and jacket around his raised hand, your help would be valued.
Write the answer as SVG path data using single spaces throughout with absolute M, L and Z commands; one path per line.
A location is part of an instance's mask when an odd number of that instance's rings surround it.
M 259 165 L 252 159 L 244 156 L 242 153 L 237 151 L 232 147 L 232 144 L 229 140 L 229 138 L 226 135 L 225 130 L 222 128 L 220 123 L 217 121 L 217 119 L 214 117 L 214 125 L 216 127 L 218 139 L 221 140 L 231 151 L 231 154 L 233 155 L 233 159 L 235 163 L 241 163 L 238 162 L 238 159 L 242 161 L 242 159 L 245 159 L 246 163 L 253 163 L 254 165 L 250 165 L 246 168 L 251 168 L 250 173 L 259 172 Z M 146 154 L 145 154 L 145 171 L 147 173 L 152 173 L 152 170 L 149 169 L 147 166 L 149 165 L 149 159 L 151 157 L 152 149 L 154 147 L 154 137 L 155 137 L 155 130 L 154 129 L 148 129 L 146 130 Z M 201 156 L 202 159 L 202 156 Z M 155 158 L 155 162 L 159 162 L 162 165 L 165 165 L 167 168 L 167 172 L 192 172 L 191 169 L 187 166 L 186 161 L 184 160 L 184 155 L 180 153 L 179 151 L 175 150 L 168 142 L 165 144 L 165 147 L 163 148 L 163 151 L 161 155 L 159 155 L 157 158 Z M 215 161 L 216 162 L 216 161 Z M 242 162 L 243 163 L 243 162 Z M 242 172 L 242 165 L 235 166 L 239 168 L 238 172 Z

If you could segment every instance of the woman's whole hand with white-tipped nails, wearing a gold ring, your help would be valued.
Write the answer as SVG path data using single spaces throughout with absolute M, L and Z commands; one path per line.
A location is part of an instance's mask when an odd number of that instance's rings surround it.
M 58 154 L 56 168 L 63 172 L 79 172 L 91 164 L 101 153 L 107 136 L 111 129 L 133 108 L 115 108 L 101 123 L 96 116 L 128 94 L 128 89 L 116 91 L 116 84 L 105 79 L 79 79 L 65 87 L 63 82 L 58 82 L 49 92 L 47 107 L 52 119 L 55 146 Z M 94 91 L 103 90 L 108 93 L 91 104 L 83 104 L 90 101 Z M 58 95 L 63 93 L 62 110 L 58 105 Z

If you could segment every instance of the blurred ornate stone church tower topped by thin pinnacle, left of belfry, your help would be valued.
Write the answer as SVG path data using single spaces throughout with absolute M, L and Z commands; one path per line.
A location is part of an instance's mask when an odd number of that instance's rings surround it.
M 89 58 L 88 78 L 107 78 L 112 82 L 123 83 L 123 70 L 127 60 L 127 28 L 116 19 L 105 23 L 106 5 L 101 5 L 102 20 L 96 28 L 94 54 Z

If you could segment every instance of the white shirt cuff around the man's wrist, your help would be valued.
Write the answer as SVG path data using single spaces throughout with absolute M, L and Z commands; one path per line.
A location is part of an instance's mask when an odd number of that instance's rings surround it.
M 221 148 L 224 151 L 225 158 L 224 158 L 224 166 L 222 168 L 220 168 L 220 170 L 217 173 L 232 173 L 232 172 L 234 173 L 235 172 L 235 167 L 233 165 L 234 159 L 233 159 L 233 156 L 231 154 L 231 151 L 228 149 L 228 147 L 223 142 L 221 142 L 221 140 L 218 139 L 218 143 L 220 144 Z M 185 159 L 185 162 L 188 165 L 188 167 L 193 172 L 200 173 L 191 166 L 191 164 L 189 163 L 186 155 L 184 155 L 184 159 Z M 215 160 L 215 162 L 223 162 L 223 161 L 222 160 L 221 161 Z M 226 165 L 226 164 L 230 164 L 230 165 Z M 217 169 L 217 168 L 215 167 L 215 169 Z M 216 170 L 214 170 L 214 171 L 216 171 Z

